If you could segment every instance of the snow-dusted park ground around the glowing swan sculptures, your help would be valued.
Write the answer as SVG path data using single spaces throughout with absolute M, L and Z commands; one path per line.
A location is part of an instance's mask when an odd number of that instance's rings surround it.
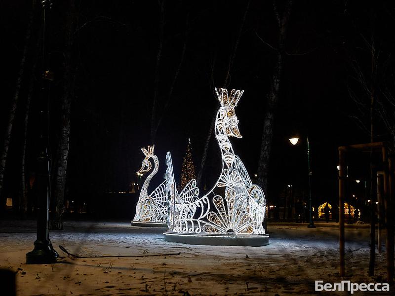
M 0 268 L 16 272 L 17 295 L 346 295 L 315 292 L 315 280 L 338 283 L 338 224 L 268 223 L 264 247 L 198 246 L 166 242 L 163 228 L 128 222 L 66 221 L 50 238 L 60 256 L 124 256 L 180 253 L 159 257 L 59 259 L 27 265 L 36 239 L 35 222 L 0 222 Z M 346 227 L 346 277 L 354 283 L 386 279 L 385 248 L 367 275 L 367 225 Z M 393 288 L 391 288 L 393 290 Z M 0 293 L 1 295 L 1 293 Z M 355 295 L 367 295 L 358 292 Z M 377 295 L 377 294 L 375 294 Z M 381 295 L 394 295 L 382 292 Z

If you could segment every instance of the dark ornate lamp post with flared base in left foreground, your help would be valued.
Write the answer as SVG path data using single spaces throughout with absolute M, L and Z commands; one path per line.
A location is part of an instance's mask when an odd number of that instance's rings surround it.
M 48 155 L 48 95 L 51 73 L 47 70 L 45 42 L 48 33 L 47 17 L 51 9 L 51 1 L 43 0 L 42 5 L 42 85 L 40 94 L 40 152 L 37 158 L 37 239 L 34 250 L 26 254 L 27 264 L 55 263 L 59 255 L 53 250 L 48 235 L 48 203 L 49 203 L 49 155 Z

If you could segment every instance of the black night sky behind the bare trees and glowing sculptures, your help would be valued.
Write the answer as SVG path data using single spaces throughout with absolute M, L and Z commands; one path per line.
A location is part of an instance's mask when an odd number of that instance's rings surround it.
M 282 11 L 284 1 L 279 1 Z M 394 62 L 392 1 L 294 0 L 286 39 L 280 101 L 276 110 L 274 143 L 269 172 L 268 200 L 276 203 L 287 184 L 307 188 L 306 136 L 311 144 L 313 197 L 336 199 L 339 146 L 370 142 L 352 116 L 369 125 L 368 114 L 358 113 L 348 87 L 363 96 L 353 80 L 351 61 L 362 70 L 370 67 L 370 52 L 363 36 L 374 32 L 382 60 Z M 177 181 L 187 139 L 192 142 L 195 164 L 200 163 L 209 125 L 219 104 L 213 87 L 222 87 L 230 55 L 237 40 L 247 1 L 165 1 L 164 37 L 159 65 L 159 116 L 163 116 L 155 141 L 163 174 L 164 156 L 171 151 Z M 71 141 L 66 199 L 93 200 L 107 191 L 128 190 L 137 182 L 135 172 L 143 160 L 141 147 L 149 143 L 151 106 L 159 39 L 158 1 L 77 1 L 78 24 L 73 55 L 77 64 L 72 100 Z M 4 134 L 9 103 L 15 92 L 19 63 L 25 45 L 31 2 L 1 1 L 2 87 L 0 135 Z M 67 1 L 53 1 L 50 21 L 50 68 L 55 73 L 50 103 L 50 143 L 56 149 L 60 97 L 64 73 Z M 33 36 L 40 32 L 40 4 L 34 10 Z M 374 29 L 372 29 L 374 28 Z M 242 139 L 231 139 L 236 154 L 250 176 L 257 171 L 266 96 L 276 52 L 278 28 L 272 1 L 251 0 L 231 69 L 228 89 L 244 89 L 236 108 Z M 163 107 L 186 52 L 168 108 Z M 36 42 L 36 41 L 34 41 Z M 32 42 L 33 44 L 33 42 Z M 31 72 L 37 46 L 29 46 L 27 70 Z M 37 44 L 37 43 L 36 43 Z M 380 60 L 380 61 L 382 61 Z M 34 73 L 39 79 L 39 72 Z M 367 77 L 369 80 L 369 77 Z M 24 81 L 28 81 L 25 79 Z M 15 194 L 21 121 L 28 82 L 23 82 L 10 147 L 5 191 Z M 37 84 L 37 83 L 36 83 Z M 28 172 L 34 172 L 37 151 L 37 86 L 28 136 Z M 365 98 L 369 102 L 369 98 Z M 368 103 L 367 103 L 368 104 Z M 376 141 L 389 140 L 379 123 Z M 301 142 L 292 147 L 289 136 Z M 220 172 L 219 148 L 212 139 L 206 172 L 207 187 Z M 362 171 L 354 170 L 363 177 Z M 161 182 L 159 177 L 157 181 Z M 158 182 L 159 184 L 159 182 Z M 318 204 L 318 203 L 317 203 Z

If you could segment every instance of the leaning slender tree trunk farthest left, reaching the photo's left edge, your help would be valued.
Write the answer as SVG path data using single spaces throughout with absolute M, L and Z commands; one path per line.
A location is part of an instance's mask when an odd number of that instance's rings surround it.
M 33 1 L 33 4 L 32 4 L 32 11 L 30 13 L 29 21 L 28 21 L 28 25 L 27 25 L 27 29 L 26 29 L 25 45 L 23 47 L 22 57 L 21 57 L 21 61 L 19 63 L 19 73 L 18 73 L 18 78 L 16 81 L 15 93 L 14 93 L 14 96 L 11 100 L 10 110 L 8 112 L 7 127 L 5 128 L 4 142 L 3 142 L 3 147 L 2 147 L 1 155 L 0 155 L 0 200 L 1 200 L 0 212 L 4 210 L 4 206 L 5 206 L 5 199 L 6 198 L 5 198 L 5 196 L 2 197 L 2 195 L 1 195 L 2 188 L 3 188 L 5 165 L 6 165 L 6 160 L 7 160 L 9 144 L 11 142 L 12 125 L 14 123 L 15 112 L 16 112 L 16 108 L 18 105 L 19 92 L 21 90 L 22 79 L 23 79 L 24 73 L 25 73 L 25 63 L 26 63 L 27 50 L 28 50 L 28 46 L 29 46 L 29 40 L 32 35 L 34 6 L 35 6 L 35 1 Z

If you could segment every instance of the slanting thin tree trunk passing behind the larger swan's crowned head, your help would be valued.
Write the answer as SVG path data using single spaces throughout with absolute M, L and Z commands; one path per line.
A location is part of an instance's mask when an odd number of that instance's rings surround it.
M 228 71 L 226 73 L 224 84 L 223 84 L 224 88 L 227 88 L 229 86 L 229 84 L 231 83 L 231 70 L 232 70 L 232 66 L 233 66 L 233 63 L 234 63 L 235 58 L 236 58 L 237 47 L 238 47 L 238 43 L 240 41 L 241 33 L 243 31 L 243 27 L 244 27 L 245 19 L 247 17 L 247 12 L 248 12 L 248 9 L 249 9 L 249 6 L 250 6 L 250 2 L 251 2 L 251 0 L 248 0 L 247 5 L 245 7 L 245 11 L 244 11 L 243 17 L 241 19 L 240 28 L 238 30 L 235 46 L 233 46 L 233 50 L 232 50 L 232 53 L 231 53 L 231 56 L 230 56 L 230 59 L 229 59 Z M 215 101 L 217 102 L 216 99 L 215 99 Z M 216 118 L 216 113 L 214 113 L 213 120 L 211 121 L 210 128 L 208 129 L 206 142 L 204 143 L 203 154 L 202 154 L 202 157 L 201 157 L 201 160 L 200 160 L 200 169 L 199 169 L 199 173 L 197 174 L 197 186 L 200 186 L 201 178 L 202 178 L 202 175 L 203 175 L 203 172 L 204 172 L 204 168 L 205 168 L 205 165 L 206 165 L 206 158 L 207 158 L 208 148 L 210 147 L 210 141 L 211 141 L 211 137 L 212 137 L 214 126 L 215 126 L 215 118 Z

